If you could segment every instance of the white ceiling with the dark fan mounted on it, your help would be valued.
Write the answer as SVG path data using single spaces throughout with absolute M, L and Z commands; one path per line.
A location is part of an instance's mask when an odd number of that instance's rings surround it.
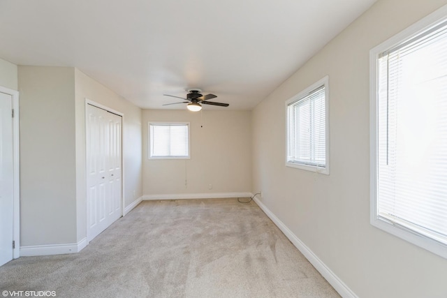
M 375 1 L 1 0 L 0 58 L 77 67 L 142 108 L 198 87 L 251 110 Z

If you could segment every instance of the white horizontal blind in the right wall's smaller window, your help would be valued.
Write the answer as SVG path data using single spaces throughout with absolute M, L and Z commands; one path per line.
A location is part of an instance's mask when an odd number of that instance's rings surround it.
M 288 163 L 325 167 L 325 86 L 290 103 L 288 114 Z

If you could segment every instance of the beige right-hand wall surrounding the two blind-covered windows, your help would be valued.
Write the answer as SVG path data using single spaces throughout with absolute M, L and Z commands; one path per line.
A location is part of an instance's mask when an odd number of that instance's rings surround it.
M 446 297 L 447 260 L 369 224 L 369 50 L 447 3 L 379 0 L 253 112 L 253 187 L 358 297 Z M 284 102 L 329 75 L 330 175 L 284 165 Z

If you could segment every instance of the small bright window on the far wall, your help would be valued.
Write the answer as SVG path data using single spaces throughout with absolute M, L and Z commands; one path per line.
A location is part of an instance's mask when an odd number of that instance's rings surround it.
M 189 123 L 150 123 L 149 158 L 189 158 Z

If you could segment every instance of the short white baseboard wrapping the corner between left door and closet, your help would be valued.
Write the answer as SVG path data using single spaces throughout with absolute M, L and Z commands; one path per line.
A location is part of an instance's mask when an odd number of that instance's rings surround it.
M 36 246 L 20 246 L 21 257 L 32 257 L 36 255 L 64 255 L 66 253 L 79 253 L 87 246 L 87 238 L 78 243 L 49 244 Z

